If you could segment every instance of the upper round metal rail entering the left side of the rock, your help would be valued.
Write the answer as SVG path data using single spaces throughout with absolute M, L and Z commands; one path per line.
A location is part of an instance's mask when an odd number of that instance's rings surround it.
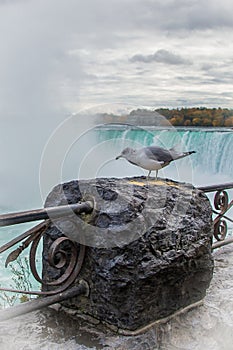
M 24 222 L 46 220 L 49 218 L 56 219 L 62 216 L 70 215 L 71 212 L 74 212 L 75 214 L 89 214 L 92 211 L 93 203 L 91 201 L 43 209 L 27 210 L 18 213 L 0 215 L 0 226 L 10 226 Z

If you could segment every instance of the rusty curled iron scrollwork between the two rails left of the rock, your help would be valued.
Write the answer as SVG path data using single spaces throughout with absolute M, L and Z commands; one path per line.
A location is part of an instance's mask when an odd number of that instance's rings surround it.
M 40 240 L 49 224 L 50 220 L 45 220 L 42 224 L 39 224 L 33 229 L 30 229 L 22 234 L 19 238 L 17 238 L 17 240 L 12 240 L 0 248 L 0 252 L 3 252 L 16 243 L 23 241 L 18 248 L 8 255 L 5 263 L 5 266 L 7 266 L 10 262 L 16 260 L 22 251 L 31 244 L 29 265 L 34 278 L 41 283 L 42 291 L 26 291 L 10 288 L 0 288 L 0 290 L 23 294 L 54 295 L 63 292 L 75 281 L 82 267 L 85 255 L 85 246 L 76 243 L 65 236 L 59 237 L 53 241 L 48 249 L 48 266 L 57 271 L 55 274 L 57 278 L 50 281 L 45 281 L 39 276 L 36 266 L 37 250 Z

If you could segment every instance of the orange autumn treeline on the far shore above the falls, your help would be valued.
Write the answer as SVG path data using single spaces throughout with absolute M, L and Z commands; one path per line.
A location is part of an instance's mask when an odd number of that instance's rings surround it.
M 233 127 L 233 110 L 227 108 L 156 109 L 174 126 L 226 126 Z

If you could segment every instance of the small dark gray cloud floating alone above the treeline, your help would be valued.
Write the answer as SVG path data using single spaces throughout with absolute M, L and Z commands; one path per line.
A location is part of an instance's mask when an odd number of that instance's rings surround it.
M 144 63 L 151 63 L 151 62 L 159 62 L 159 63 L 165 63 L 165 64 L 172 64 L 172 65 L 180 65 L 180 64 L 191 64 L 191 61 L 188 59 L 183 58 L 180 55 L 174 54 L 168 50 L 158 50 L 154 54 L 150 55 L 142 55 L 137 54 L 130 58 L 130 62 L 144 62 Z

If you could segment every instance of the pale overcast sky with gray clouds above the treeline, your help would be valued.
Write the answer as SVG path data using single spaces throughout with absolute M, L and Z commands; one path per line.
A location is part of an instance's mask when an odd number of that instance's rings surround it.
M 1 0 L 0 112 L 232 108 L 231 0 Z

